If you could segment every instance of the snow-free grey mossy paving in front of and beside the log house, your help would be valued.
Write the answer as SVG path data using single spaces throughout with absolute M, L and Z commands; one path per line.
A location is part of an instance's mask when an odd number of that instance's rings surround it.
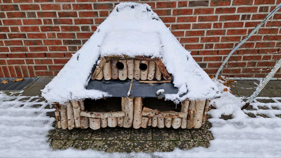
M 40 96 L 40 90 L 51 81 L 52 78 L 39 78 L 23 92 L 24 96 Z M 247 96 L 256 87 L 253 81 L 238 81 L 232 84 L 232 92 L 237 96 Z M 270 81 L 263 89 L 261 97 L 281 97 L 280 81 Z M 271 103 L 274 100 L 258 100 L 261 103 Z M 266 109 L 267 107 L 258 107 Z M 273 108 L 273 107 L 272 107 Z M 276 110 L 278 107 L 275 107 Z M 248 107 L 247 110 L 257 110 Z M 250 117 L 268 117 L 264 114 L 247 113 Z M 47 113 L 54 117 L 54 112 Z M 281 116 L 277 116 L 280 117 Z M 210 116 L 209 116 L 210 118 Z M 222 119 L 232 119 L 231 116 L 222 116 Z M 98 130 L 72 129 L 63 130 L 56 128 L 48 133 L 48 142 L 54 150 L 75 148 L 79 150 L 94 149 L 105 152 L 168 152 L 175 147 L 188 150 L 193 147 L 208 147 L 209 141 L 213 140 L 213 135 L 208 129 L 210 122 L 206 121 L 200 129 L 133 129 L 133 128 L 102 128 Z

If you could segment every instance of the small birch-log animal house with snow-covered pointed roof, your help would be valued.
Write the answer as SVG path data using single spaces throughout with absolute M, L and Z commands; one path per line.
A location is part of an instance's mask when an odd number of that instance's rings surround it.
M 42 95 L 62 129 L 191 129 L 220 93 L 150 6 L 120 3 Z

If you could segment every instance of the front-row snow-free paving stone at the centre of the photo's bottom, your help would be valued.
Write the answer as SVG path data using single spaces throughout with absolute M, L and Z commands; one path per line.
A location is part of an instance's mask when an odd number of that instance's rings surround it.
M 135 152 L 155 152 L 157 151 L 156 141 L 135 141 L 133 151 Z

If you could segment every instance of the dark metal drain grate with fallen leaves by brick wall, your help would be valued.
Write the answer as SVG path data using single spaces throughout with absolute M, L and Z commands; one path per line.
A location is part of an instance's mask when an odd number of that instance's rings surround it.
M 17 78 L 0 78 L 0 91 L 22 91 L 27 86 L 32 84 L 38 77 L 26 77 L 22 81 L 13 82 L 13 79 Z M 7 80 L 8 83 L 1 83 L 3 80 Z

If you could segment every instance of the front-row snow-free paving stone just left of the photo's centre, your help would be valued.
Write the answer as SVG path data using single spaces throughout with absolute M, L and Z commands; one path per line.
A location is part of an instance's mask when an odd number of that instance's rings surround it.
M 133 149 L 133 142 L 129 140 L 110 140 L 106 145 L 106 152 L 131 152 Z

